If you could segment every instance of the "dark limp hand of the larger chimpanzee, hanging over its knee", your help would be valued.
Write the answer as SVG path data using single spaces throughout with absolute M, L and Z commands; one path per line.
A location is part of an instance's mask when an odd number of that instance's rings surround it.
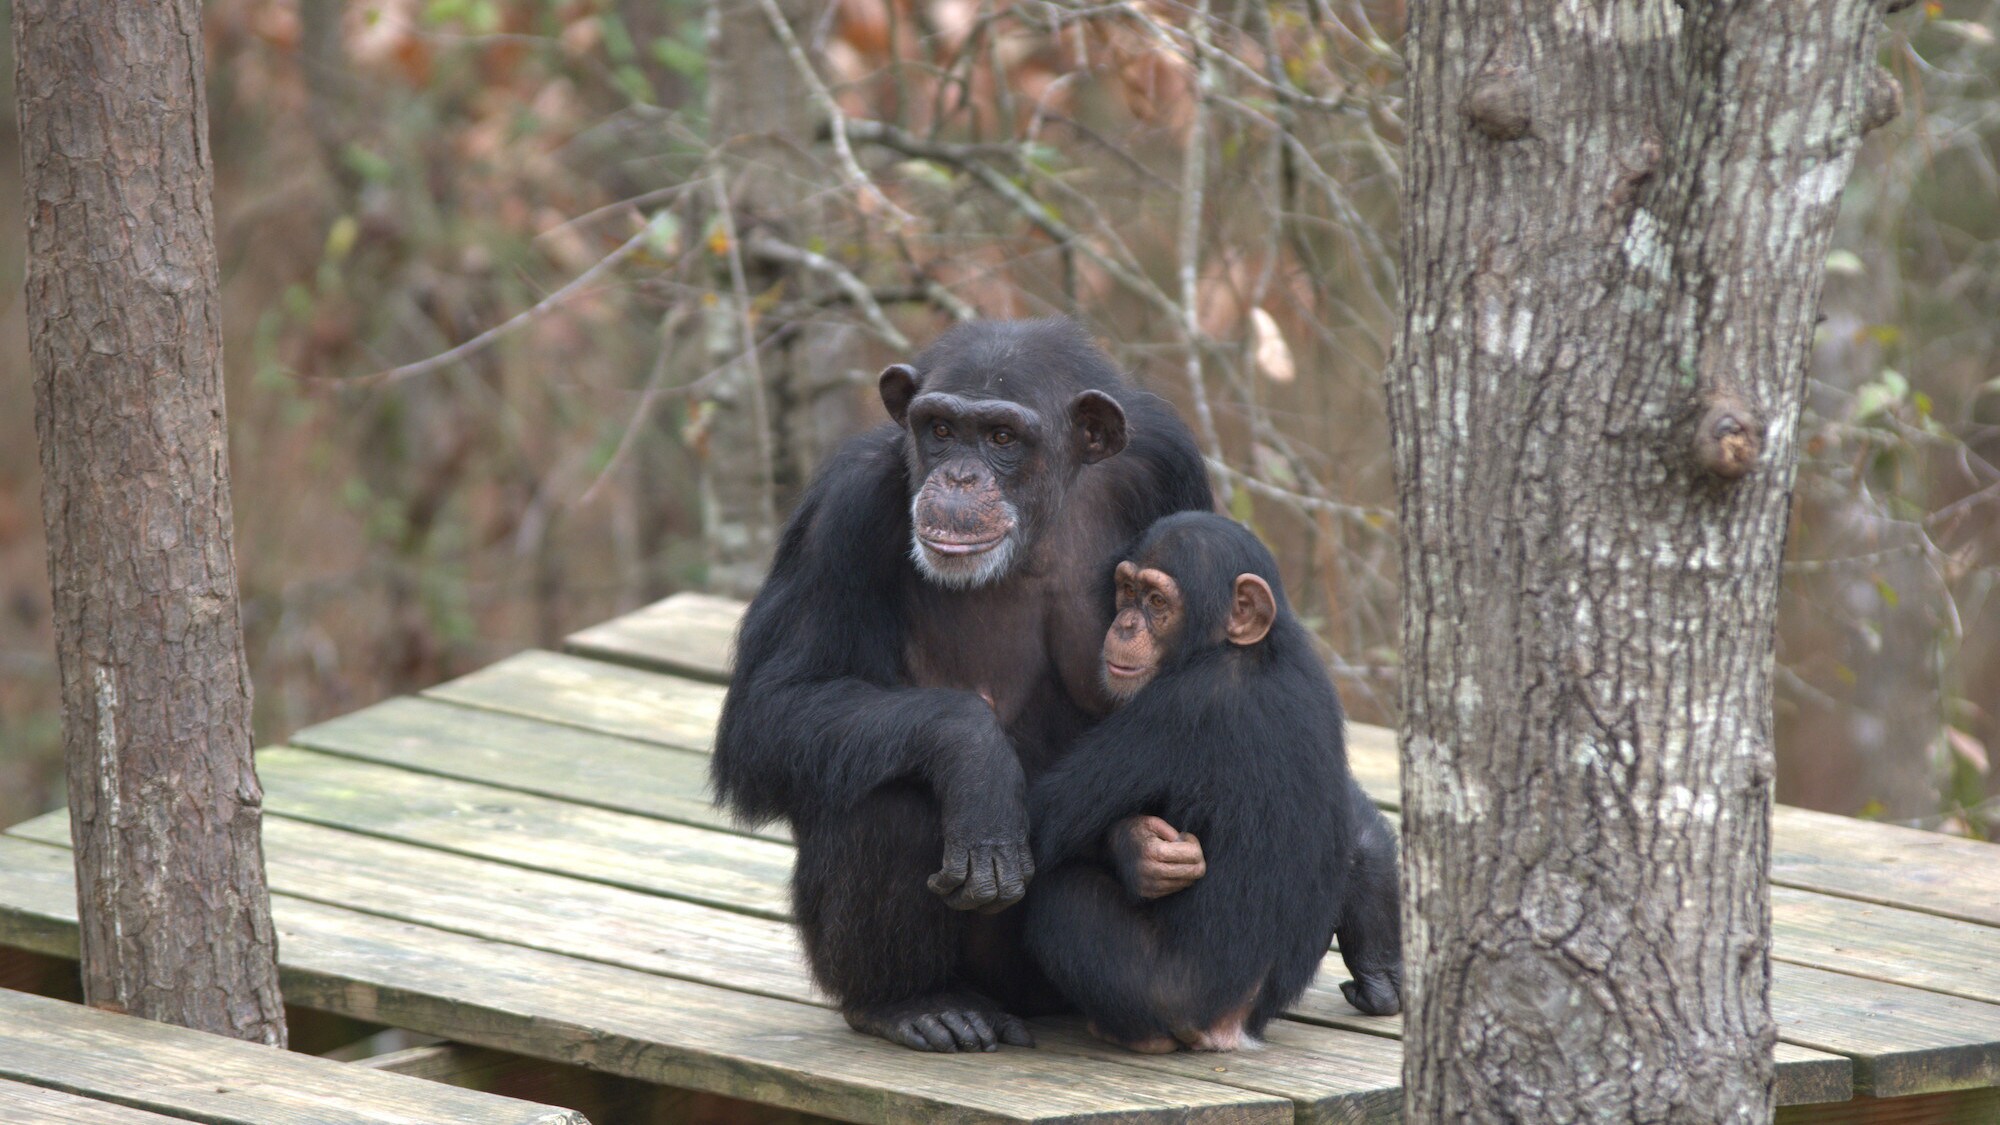
M 1028 893 L 1028 783 L 1002 735 L 998 745 L 960 747 L 956 769 L 938 785 L 944 867 L 926 885 L 954 911 L 1000 913 Z

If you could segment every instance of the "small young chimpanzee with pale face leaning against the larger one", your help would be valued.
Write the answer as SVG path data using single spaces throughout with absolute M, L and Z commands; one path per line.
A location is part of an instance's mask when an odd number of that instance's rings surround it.
M 1034 783 L 1028 949 L 1092 1029 L 1136 1051 L 1230 1051 L 1312 983 L 1338 931 L 1348 1003 L 1400 1011 L 1396 841 L 1348 773 L 1340 699 L 1242 524 L 1156 522 L 1116 571 L 1104 679 L 1124 703 Z M 1208 873 L 1144 901 L 1098 863 L 1158 813 Z

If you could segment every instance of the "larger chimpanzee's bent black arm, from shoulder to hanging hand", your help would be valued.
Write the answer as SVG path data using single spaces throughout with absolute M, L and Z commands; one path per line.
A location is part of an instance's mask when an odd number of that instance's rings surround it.
M 902 685 L 906 502 L 894 430 L 862 434 L 814 480 L 744 617 L 710 769 L 740 817 L 794 823 L 928 783 L 946 841 L 932 887 L 996 909 L 1032 875 L 1026 785 L 978 695 Z

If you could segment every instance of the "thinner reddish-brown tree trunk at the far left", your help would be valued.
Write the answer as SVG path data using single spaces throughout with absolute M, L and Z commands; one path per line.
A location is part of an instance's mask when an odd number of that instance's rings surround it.
M 250 765 L 198 0 L 16 0 L 84 997 L 284 1043 Z

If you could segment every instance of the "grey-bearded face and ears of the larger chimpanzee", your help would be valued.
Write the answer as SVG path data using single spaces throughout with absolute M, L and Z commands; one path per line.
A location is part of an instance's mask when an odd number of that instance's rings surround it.
M 1034 544 L 1076 470 L 1124 448 L 1124 410 L 1100 390 L 1048 418 L 1026 402 L 916 392 L 916 372 L 882 372 L 882 404 L 910 434 L 910 556 L 954 589 L 1000 581 Z M 1058 398 L 1060 402 L 1060 398 Z

